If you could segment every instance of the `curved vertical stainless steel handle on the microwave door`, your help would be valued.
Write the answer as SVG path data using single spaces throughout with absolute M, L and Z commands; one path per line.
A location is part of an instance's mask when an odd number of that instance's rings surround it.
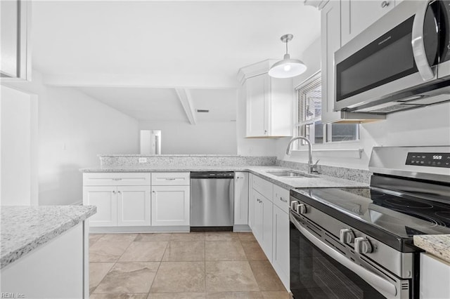
M 425 52 L 425 44 L 423 42 L 423 24 L 425 22 L 425 14 L 427 13 L 428 4 L 430 4 L 430 1 L 423 1 L 423 4 L 420 4 L 420 7 L 414 16 L 411 39 L 414 60 L 416 61 L 417 69 L 423 81 L 428 81 L 435 77 L 435 74 L 428 63 L 427 53 Z

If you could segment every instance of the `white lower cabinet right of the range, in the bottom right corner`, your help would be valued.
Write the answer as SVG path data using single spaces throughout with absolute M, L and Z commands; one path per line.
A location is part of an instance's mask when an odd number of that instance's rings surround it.
M 450 298 L 450 263 L 420 253 L 420 299 Z

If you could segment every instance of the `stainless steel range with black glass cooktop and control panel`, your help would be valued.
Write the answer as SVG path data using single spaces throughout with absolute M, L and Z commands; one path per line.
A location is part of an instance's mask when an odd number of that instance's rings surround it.
M 374 147 L 368 188 L 290 192 L 293 298 L 419 298 L 415 234 L 450 234 L 450 147 Z

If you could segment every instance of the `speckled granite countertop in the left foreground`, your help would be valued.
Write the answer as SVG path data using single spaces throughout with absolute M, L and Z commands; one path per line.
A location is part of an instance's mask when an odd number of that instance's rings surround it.
M 53 218 L 53 220 L 58 221 L 58 225 L 55 225 L 48 229 L 46 229 L 46 227 L 43 227 L 42 230 L 39 230 L 39 234 L 33 235 L 30 233 L 30 231 L 32 230 L 30 230 L 31 225 L 29 223 L 18 224 L 17 222 L 12 222 L 10 221 L 10 219 L 8 219 L 7 215 L 4 214 L 8 213 L 8 211 L 12 208 L 15 210 L 15 213 L 34 213 L 34 215 L 31 215 L 31 217 L 34 217 L 36 219 L 45 216 L 44 213 L 46 213 L 46 211 L 52 213 L 58 211 L 58 219 Z M 74 211 L 75 209 L 77 211 Z M 63 234 L 64 232 L 70 230 L 72 227 L 75 227 L 75 225 L 78 225 L 79 222 L 82 222 L 91 217 L 91 215 L 94 215 L 96 213 L 96 210 L 96 206 L 1 206 L 2 213 L 0 239 L 2 244 L 0 255 L 0 269 L 3 269 L 16 260 L 19 260 L 27 253 L 30 253 L 34 249 L 39 248 L 39 246 L 48 243 L 52 239 L 55 239 L 60 234 Z M 50 215 L 49 213 L 49 216 L 53 215 Z M 12 220 L 17 220 L 17 218 L 13 217 Z M 18 230 L 20 231 L 18 232 Z M 11 231 L 15 232 L 15 239 L 13 242 L 8 240 L 8 237 L 10 236 L 6 235 L 5 233 Z

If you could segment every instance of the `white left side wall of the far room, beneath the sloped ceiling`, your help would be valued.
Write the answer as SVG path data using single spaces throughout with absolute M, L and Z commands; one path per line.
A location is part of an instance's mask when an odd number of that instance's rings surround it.
M 39 205 L 82 202 L 79 168 L 98 166 L 97 154 L 139 152 L 138 121 L 75 88 L 44 86 L 36 70 L 2 84 L 39 97 Z

